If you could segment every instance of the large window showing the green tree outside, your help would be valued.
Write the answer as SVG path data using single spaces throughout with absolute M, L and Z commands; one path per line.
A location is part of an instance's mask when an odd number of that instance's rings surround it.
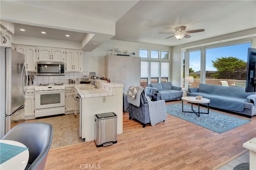
M 235 82 L 245 83 L 250 47 L 251 43 L 242 43 L 205 49 L 206 84 L 221 85 L 220 80 L 226 80 L 229 86 L 234 86 Z

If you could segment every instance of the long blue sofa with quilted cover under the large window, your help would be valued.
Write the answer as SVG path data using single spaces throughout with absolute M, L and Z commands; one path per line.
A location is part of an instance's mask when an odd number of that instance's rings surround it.
M 245 92 L 243 87 L 200 83 L 198 88 L 188 88 L 187 96 L 199 95 L 210 99 L 210 107 L 240 113 L 250 118 L 256 115 L 256 94 Z

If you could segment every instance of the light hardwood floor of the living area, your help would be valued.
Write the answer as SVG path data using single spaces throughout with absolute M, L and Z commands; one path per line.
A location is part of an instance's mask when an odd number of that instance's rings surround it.
M 177 102 L 181 101 L 166 104 Z M 169 114 L 165 122 L 146 128 L 128 117 L 125 113 L 116 144 L 97 148 L 90 141 L 51 149 L 45 169 L 210 170 L 244 154 L 242 144 L 256 137 L 256 116 L 221 134 Z

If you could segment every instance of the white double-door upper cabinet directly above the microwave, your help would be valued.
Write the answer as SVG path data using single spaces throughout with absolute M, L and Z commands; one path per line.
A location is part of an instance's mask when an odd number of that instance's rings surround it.
M 62 61 L 65 58 L 65 49 L 38 47 L 38 61 Z

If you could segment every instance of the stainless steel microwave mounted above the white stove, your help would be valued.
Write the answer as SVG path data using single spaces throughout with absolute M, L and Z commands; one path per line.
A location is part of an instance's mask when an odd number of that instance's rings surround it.
M 40 61 L 37 62 L 37 75 L 38 76 L 64 76 L 65 63 Z

